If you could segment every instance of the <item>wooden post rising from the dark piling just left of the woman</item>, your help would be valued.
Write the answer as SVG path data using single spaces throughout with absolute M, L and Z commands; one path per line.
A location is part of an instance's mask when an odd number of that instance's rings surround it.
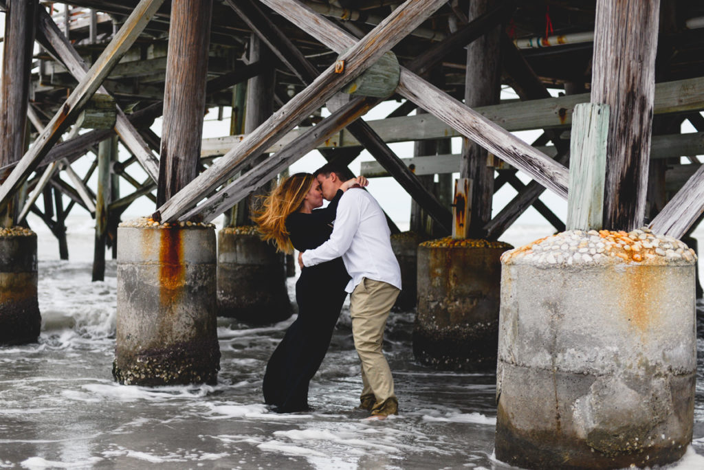
M 252 34 L 249 38 L 249 61 L 270 62 L 272 61 L 272 53 L 266 44 L 259 39 L 256 34 Z M 274 87 L 275 87 L 275 72 L 274 70 L 265 70 L 260 75 L 252 77 L 247 82 L 247 99 L 245 105 L 244 133 L 249 134 L 259 127 L 262 122 L 270 118 L 274 111 Z M 251 165 L 246 165 L 242 170 L 246 172 L 251 167 L 258 165 L 267 157 L 266 153 L 261 153 L 253 157 Z M 265 186 L 266 182 L 261 182 L 262 186 L 255 191 L 251 196 L 244 199 L 234 208 L 234 225 L 251 225 L 250 209 L 253 197 L 257 194 L 263 195 L 270 188 Z

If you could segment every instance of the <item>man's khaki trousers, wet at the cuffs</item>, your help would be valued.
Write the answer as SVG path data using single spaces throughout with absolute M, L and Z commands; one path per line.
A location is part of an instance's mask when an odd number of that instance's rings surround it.
M 394 379 L 382 352 L 382 341 L 386 318 L 399 292 L 391 284 L 364 278 L 350 297 L 352 335 L 362 362 L 361 399 L 363 404 L 371 404 L 373 397 L 372 414 L 396 413 Z

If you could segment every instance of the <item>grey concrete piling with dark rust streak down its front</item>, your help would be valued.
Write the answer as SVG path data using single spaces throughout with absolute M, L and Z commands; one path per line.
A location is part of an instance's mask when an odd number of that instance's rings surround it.
M 113 375 L 129 385 L 215 383 L 215 230 L 140 219 L 118 227 Z

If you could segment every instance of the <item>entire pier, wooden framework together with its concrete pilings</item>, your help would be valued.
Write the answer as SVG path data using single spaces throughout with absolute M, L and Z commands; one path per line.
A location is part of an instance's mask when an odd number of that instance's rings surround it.
M 248 196 L 291 163 L 317 150 L 347 167 L 365 149 L 375 161 L 362 173 L 394 177 L 413 199 L 407 239 L 429 240 L 416 357 L 494 369 L 498 350 L 499 459 L 591 469 L 685 452 L 696 257 L 679 239 L 704 212 L 704 4 L 0 0 L 0 11 L 0 239 L 11 242 L 0 243 L 0 331 L 13 331 L 0 344 L 39 334 L 27 214 L 68 258 L 80 206 L 96 220 L 93 279 L 106 247 L 118 257 L 115 379 L 215 382 L 208 222 L 225 214 L 237 238 Z M 503 88 L 519 99 L 502 101 Z M 383 102 L 396 108 L 365 120 Z M 204 139 L 214 108 L 231 110 L 230 135 Z M 524 130 L 539 137 L 515 136 Z M 389 147 L 404 141 L 413 155 Z M 492 216 L 506 184 L 517 195 Z M 546 189 L 567 200 L 566 220 L 540 201 Z M 150 218 L 120 226 L 144 197 Z M 531 206 L 560 235 L 499 260 L 498 238 Z M 272 272 L 285 291 L 282 259 Z M 603 309 L 589 310 L 592 296 Z

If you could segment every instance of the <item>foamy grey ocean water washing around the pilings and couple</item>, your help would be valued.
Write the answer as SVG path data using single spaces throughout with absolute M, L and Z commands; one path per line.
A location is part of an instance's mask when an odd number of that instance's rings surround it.
M 275 414 L 260 394 L 269 355 L 293 318 L 251 328 L 218 322 L 215 386 L 120 386 L 115 261 L 91 282 L 92 234 L 70 233 L 70 261 L 39 231 L 39 343 L 0 348 L 0 468 L 508 469 L 494 458 L 495 377 L 415 362 L 412 312 L 394 312 L 384 350 L 400 414 L 366 421 L 354 409 L 358 359 L 341 316 L 310 387 L 313 411 Z M 524 227 L 529 241 L 547 233 Z M 535 235 L 535 236 L 534 236 Z M 289 279 L 293 298 L 295 279 Z M 672 469 L 704 468 L 704 341 L 698 342 L 693 443 Z

